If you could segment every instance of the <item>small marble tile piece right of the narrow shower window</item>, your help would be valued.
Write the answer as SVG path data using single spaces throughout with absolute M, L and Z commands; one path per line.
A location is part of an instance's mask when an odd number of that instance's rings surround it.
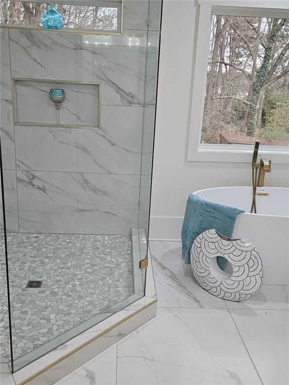
M 124 0 L 123 28 L 148 30 L 149 0 Z

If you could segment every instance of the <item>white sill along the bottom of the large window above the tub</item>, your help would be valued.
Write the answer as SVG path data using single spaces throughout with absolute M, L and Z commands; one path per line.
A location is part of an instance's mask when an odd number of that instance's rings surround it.
M 263 146 L 259 148 L 259 157 L 265 157 L 272 163 L 289 163 L 289 147 Z M 251 163 L 253 146 L 234 146 L 231 144 L 199 144 L 196 149 L 188 149 L 188 161 L 201 162 L 236 162 Z

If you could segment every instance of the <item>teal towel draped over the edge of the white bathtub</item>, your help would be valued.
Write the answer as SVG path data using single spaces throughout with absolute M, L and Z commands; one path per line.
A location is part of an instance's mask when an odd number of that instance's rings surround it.
M 244 210 L 205 201 L 191 194 L 187 201 L 182 228 L 182 255 L 186 264 L 190 263 L 190 251 L 194 240 L 206 230 L 215 229 L 225 237 L 231 237 L 236 218 Z M 220 257 L 218 265 L 222 269 L 226 261 Z M 222 269 L 223 270 L 223 269 Z

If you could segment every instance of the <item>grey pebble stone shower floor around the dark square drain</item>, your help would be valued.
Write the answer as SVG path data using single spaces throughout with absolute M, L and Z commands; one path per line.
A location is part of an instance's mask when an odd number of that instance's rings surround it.
M 4 237 L 0 240 L 0 358 L 10 360 Z M 9 233 L 14 359 L 133 294 L 131 237 Z M 41 288 L 26 288 L 42 280 Z

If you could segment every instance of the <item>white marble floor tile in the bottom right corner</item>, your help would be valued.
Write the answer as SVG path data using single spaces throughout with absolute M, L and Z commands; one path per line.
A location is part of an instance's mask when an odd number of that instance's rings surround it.
M 230 311 L 263 385 L 288 385 L 289 312 Z

